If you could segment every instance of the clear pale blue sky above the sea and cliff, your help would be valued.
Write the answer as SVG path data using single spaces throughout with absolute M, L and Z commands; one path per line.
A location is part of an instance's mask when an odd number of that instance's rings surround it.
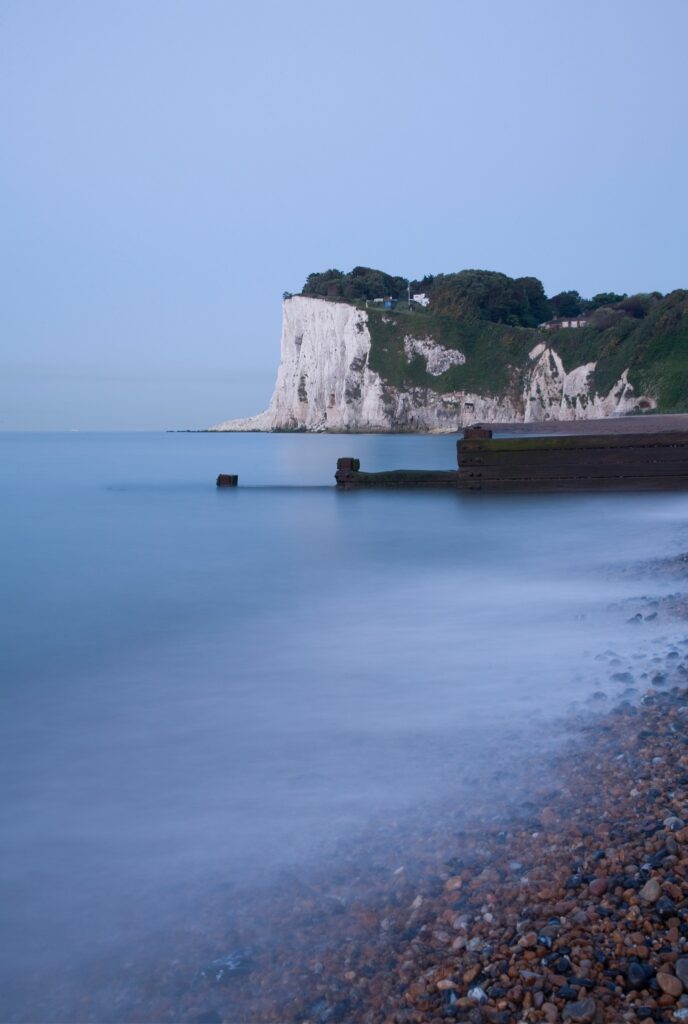
M 0 430 L 269 400 L 357 264 L 688 287 L 685 0 L 2 0 Z

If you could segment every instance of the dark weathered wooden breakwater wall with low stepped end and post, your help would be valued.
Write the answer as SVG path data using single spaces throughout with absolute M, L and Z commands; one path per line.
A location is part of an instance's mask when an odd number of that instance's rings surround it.
M 454 487 L 459 490 L 688 489 L 688 431 L 492 437 L 470 427 L 457 443 L 457 470 L 367 473 L 340 459 L 335 479 L 357 487 Z

